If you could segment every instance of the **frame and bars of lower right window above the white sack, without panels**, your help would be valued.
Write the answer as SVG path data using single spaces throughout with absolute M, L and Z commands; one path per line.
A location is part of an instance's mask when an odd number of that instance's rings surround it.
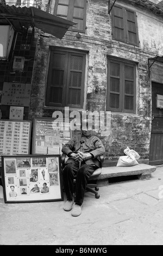
M 111 92 L 110 90 L 110 63 L 116 63 L 120 64 L 120 92 Z M 120 58 L 107 58 L 107 63 L 108 63 L 108 74 L 107 74 L 107 89 L 106 89 L 106 111 L 112 111 L 112 112 L 120 112 L 120 113 L 136 113 L 136 63 L 131 62 L 130 60 L 124 60 Z M 128 65 L 133 67 L 133 109 L 124 109 L 124 97 L 127 95 L 127 93 L 124 92 L 125 90 L 125 76 L 124 76 L 124 67 Z M 120 103 L 119 103 L 119 108 L 113 108 L 110 107 L 110 94 L 115 93 L 120 95 Z M 129 94 L 128 94 L 129 95 Z

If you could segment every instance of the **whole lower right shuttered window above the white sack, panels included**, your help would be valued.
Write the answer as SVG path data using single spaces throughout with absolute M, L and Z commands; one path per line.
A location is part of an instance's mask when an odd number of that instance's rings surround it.
M 106 110 L 136 113 L 136 65 L 108 59 Z

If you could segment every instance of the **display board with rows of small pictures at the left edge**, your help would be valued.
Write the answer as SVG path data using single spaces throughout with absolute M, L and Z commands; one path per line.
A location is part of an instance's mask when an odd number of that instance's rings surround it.
M 0 120 L 0 158 L 30 153 L 31 121 Z M 0 159 L 0 166 L 1 159 Z

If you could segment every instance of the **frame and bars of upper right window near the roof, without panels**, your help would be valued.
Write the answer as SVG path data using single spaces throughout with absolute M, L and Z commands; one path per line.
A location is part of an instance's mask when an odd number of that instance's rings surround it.
M 124 40 L 123 39 L 117 39 L 116 38 L 116 33 L 115 33 L 115 8 L 121 8 L 122 9 L 122 14 L 123 14 L 123 36 L 124 36 Z M 129 28 L 128 28 L 128 20 L 127 20 L 127 11 L 129 11 L 130 13 L 134 14 L 134 23 L 135 23 L 135 34 L 136 34 L 136 42 L 132 42 L 129 39 Z M 134 45 L 139 47 L 139 32 L 138 32 L 138 27 L 137 27 L 137 15 L 136 12 L 134 10 L 131 10 L 129 8 L 126 7 L 122 7 L 121 5 L 114 5 L 114 7 L 112 8 L 112 39 L 116 40 L 116 41 L 122 41 L 126 44 L 130 44 L 130 45 Z

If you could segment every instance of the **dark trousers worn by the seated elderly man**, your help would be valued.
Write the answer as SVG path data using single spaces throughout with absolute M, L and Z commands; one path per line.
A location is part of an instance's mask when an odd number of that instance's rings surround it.
M 62 178 L 64 182 L 64 189 L 67 196 L 67 200 L 73 199 L 73 180 L 76 179 L 75 203 L 82 205 L 84 200 L 84 193 L 86 191 L 87 181 L 97 168 L 98 167 L 95 164 L 86 164 L 85 162 L 81 164 L 80 168 L 78 162 L 66 164 L 62 172 Z

